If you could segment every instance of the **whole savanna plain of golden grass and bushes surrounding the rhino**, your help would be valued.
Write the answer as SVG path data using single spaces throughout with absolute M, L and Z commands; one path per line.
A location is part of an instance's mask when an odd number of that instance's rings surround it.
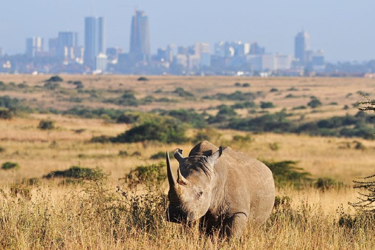
M 0 75 L 1 249 L 375 249 L 374 215 L 348 204 L 375 174 L 356 105 L 375 80 L 51 77 Z M 165 219 L 165 152 L 201 140 L 274 170 L 271 218 L 240 240 Z

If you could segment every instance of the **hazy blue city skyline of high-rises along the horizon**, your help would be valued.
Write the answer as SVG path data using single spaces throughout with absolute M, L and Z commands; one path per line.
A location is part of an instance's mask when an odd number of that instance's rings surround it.
M 150 51 L 148 17 L 136 10 L 131 20 L 130 49 L 107 48 L 104 17 L 84 19 L 84 46 L 78 32 L 59 32 L 44 49 L 41 37 L 26 39 L 23 56 L 4 55 L 5 72 L 20 73 L 141 73 L 141 74 L 237 74 L 301 75 L 306 70 L 324 71 L 324 52 L 311 50 L 309 35 L 301 31 L 294 40 L 294 56 L 266 53 L 257 42 L 204 42 L 191 46 L 167 45 Z M 0 64 L 1 66 L 1 64 Z

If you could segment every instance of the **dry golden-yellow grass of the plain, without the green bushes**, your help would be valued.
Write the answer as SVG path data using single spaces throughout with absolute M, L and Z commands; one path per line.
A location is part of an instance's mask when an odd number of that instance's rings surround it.
M 25 83 L 28 86 L 43 86 L 50 76 L 1 75 L 4 83 Z M 62 75 L 64 81 L 82 81 L 84 89 L 104 89 L 104 95 L 116 96 L 116 91 L 134 90 L 137 98 L 152 95 L 157 98 L 170 97 L 176 103 L 152 103 L 131 107 L 140 111 L 155 108 L 193 108 L 204 110 L 219 104 L 234 104 L 235 101 L 220 102 L 202 100 L 216 93 L 262 92 L 255 100 L 276 105 L 271 112 L 282 108 L 292 111 L 306 105 L 311 96 L 323 103 L 318 112 L 297 110 L 295 115 L 305 115 L 305 120 L 328 118 L 335 115 L 355 114 L 352 104 L 362 101 L 358 91 L 375 96 L 375 80 L 359 78 L 234 78 L 234 77 L 173 77 L 147 76 L 149 81 L 139 82 L 136 76 L 75 76 Z M 250 83 L 250 87 L 236 87 L 234 83 Z M 64 89 L 72 87 L 60 83 Z M 177 87 L 194 94 L 197 100 L 183 100 L 171 92 Z M 277 88 L 277 92 L 270 92 Z M 294 88 L 294 90 L 290 90 Z M 65 89 L 65 91 L 67 91 Z M 107 91 L 107 90 L 116 91 Z M 155 93 L 157 90 L 159 93 Z M 42 90 L 1 91 L 0 96 L 9 95 L 29 100 L 30 105 L 67 109 L 77 103 L 67 102 L 59 95 L 66 93 Z M 68 93 L 69 94 L 69 93 Z M 68 95 L 66 94 L 66 95 Z M 70 93 L 71 94 L 71 93 Z M 288 94 L 295 97 L 285 98 Z M 350 95 L 348 95 L 350 94 Z M 337 105 L 329 105 L 337 103 Z M 87 107 L 124 108 L 114 104 L 83 101 Z M 344 110 L 343 106 L 349 108 Z M 125 109 L 125 108 L 124 108 Z M 213 111 L 214 112 L 214 111 Z M 248 114 L 243 114 L 247 116 Z M 41 130 L 37 126 L 42 119 L 55 121 L 55 129 Z M 342 212 L 354 214 L 348 202 L 356 201 L 355 177 L 375 174 L 375 141 L 359 138 L 312 137 L 297 134 L 252 134 L 235 130 L 216 130 L 211 142 L 217 146 L 230 146 L 253 158 L 267 161 L 292 160 L 298 167 L 312 174 L 313 178 L 329 177 L 347 186 L 322 192 L 313 187 L 295 189 L 277 188 L 277 194 L 292 199 L 291 208 L 278 210 L 273 219 L 261 228 L 249 227 L 240 242 L 224 243 L 217 238 L 202 237 L 196 230 L 183 229 L 180 225 L 160 220 L 156 229 L 148 231 L 129 224 L 128 213 L 121 209 L 108 208 L 108 204 L 119 201 L 108 198 L 116 193 L 116 186 L 123 181 L 130 169 L 140 165 L 159 162 L 150 156 L 160 151 L 177 147 L 187 154 L 192 143 L 162 144 L 157 142 L 132 144 L 89 143 L 93 136 L 115 136 L 129 129 L 130 125 L 111 123 L 103 119 L 83 119 L 55 114 L 25 114 L 12 120 L 0 120 L 0 164 L 17 162 L 15 170 L 0 169 L 0 248 L 3 249 L 375 249 L 375 234 L 370 228 L 347 229 L 339 227 Z M 81 130 L 81 131 L 80 131 Z M 190 136 L 194 129 L 188 131 Z M 236 142 L 234 135 L 250 135 L 248 142 Z M 355 149 L 360 142 L 364 147 Z M 276 147 L 274 145 L 277 145 Z M 120 154 L 126 151 L 128 156 Z M 138 152 L 133 155 L 134 152 Z M 60 180 L 46 180 L 42 176 L 51 171 L 65 170 L 71 166 L 96 167 L 109 174 L 103 190 L 84 191 L 85 187 L 59 185 Z M 176 169 L 177 162 L 172 167 Z M 11 195 L 12 184 L 22 179 L 38 178 L 40 184 L 30 187 L 31 199 L 22 195 Z M 167 184 L 163 187 L 167 188 Z M 99 188 L 99 187 L 96 187 Z M 102 188 L 102 187 L 100 187 Z M 105 191 L 104 191 L 105 190 Z M 164 190 L 165 192 L 165 190 Z M 108 197 L 106 196 L 108 195 Z M 108 198 L 105 202 L 104 198 Z M 121 202 L 120 202 L 121 204 Z M 152 207 L 152 206 L 151 206 Z M 125 209 L 125 208 L 124 208 Z M 130 208 L 129 208 L 130 209 Z M 154 209 L 154 210 L 152 210 Z M 152 207 L 151 212 L 157 213 Z M 298 216 L 289 220 L 292 209 Z M 126 210 L 126 211 L 132 211 Z M 164 216 L 160 214 L 160 217 Z M 307 214 L 307 215 L 306 215 Z M 118 216 L 118 217 L 116 217 Z M 278 217 L 281 216 L 281 217 Z M 302 222 L 303 221 L 303 222 Z M 372 222 L 374 225 L 374 222 Z M 152 224 L 152 223 L 151 223 Z M 151 225 L 150 224 L 150 225 Z M 138 225 L 138 226 L 137 226 Z M 146 227 L 147 228 L 147 227 Z M 363 231 L 361 231 L 363 230 Z M 359 233 L 361 232 L 361 233 Z

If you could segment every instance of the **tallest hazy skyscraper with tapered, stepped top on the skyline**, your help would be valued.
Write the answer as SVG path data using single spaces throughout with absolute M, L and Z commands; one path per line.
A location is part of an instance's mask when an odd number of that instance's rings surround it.
M 137 61 L 147 62 L 150 58 L 148 17 L 143 11 L 136 11 L 131 20 L 129 54 Z

